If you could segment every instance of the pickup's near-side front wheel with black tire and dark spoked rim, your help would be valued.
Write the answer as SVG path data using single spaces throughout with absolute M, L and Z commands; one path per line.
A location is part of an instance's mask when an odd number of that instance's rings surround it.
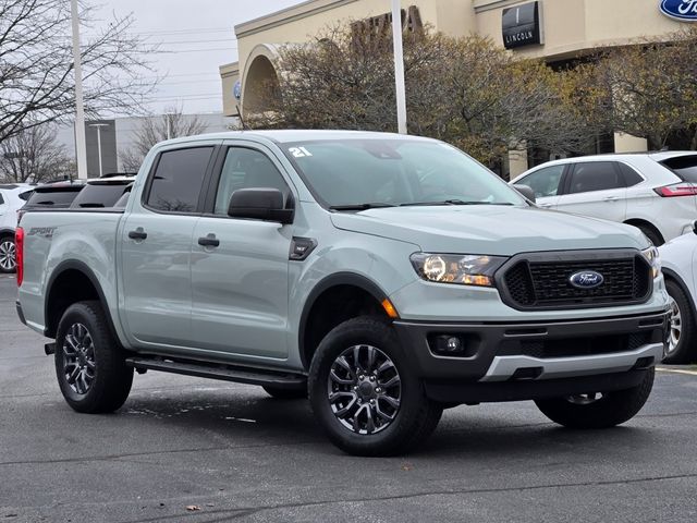
M 332 329 L 315 353 L 308 389 L 329 438 L 356 455 L 407 451 L 433 431 L 442 414 L 380 318 L 358 317 Z

